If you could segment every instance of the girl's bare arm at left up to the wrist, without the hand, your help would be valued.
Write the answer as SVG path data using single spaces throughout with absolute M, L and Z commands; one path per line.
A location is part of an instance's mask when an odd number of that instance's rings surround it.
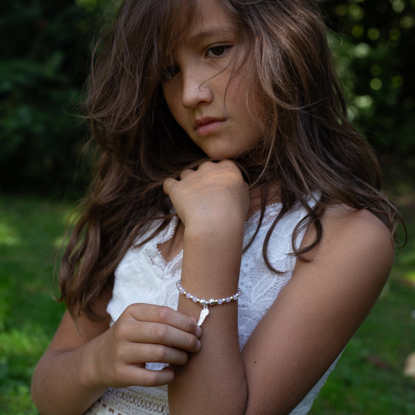
M 106 295 L 96 309 L 104 317 L 99 323 L 83 316 L 76 327 L 68 311 L 63 315 L 32 379 L 32 400 L 42 415 L 83 414 L 105 392 L 105 386 L 96 385 L 91 378 L 91 356 L 96 338 L 109 327 L 107 302 Z

